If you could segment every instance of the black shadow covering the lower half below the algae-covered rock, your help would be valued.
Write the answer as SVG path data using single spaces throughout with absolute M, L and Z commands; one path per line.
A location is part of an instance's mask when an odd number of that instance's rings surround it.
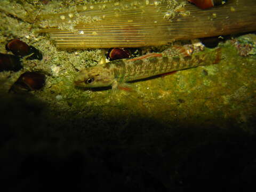
M 76 117 L 34 98 L 1 97 L 0 178 L 7 191 L 248 191 L 255 135 L 235 119 L 159 122 Z M 61 117 L 61 118 L 60 118 Z M 64 118 L 65 117 L 65 118 Z M 66 120 L 65 120 L 66 119 Z M 253 120 L 246 126 L 253 127 Z

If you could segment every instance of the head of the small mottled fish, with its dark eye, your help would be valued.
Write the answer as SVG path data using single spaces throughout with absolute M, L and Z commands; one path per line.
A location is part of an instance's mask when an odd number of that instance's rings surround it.
M 114 73 L 103 66 L 86 68 L 75 78 L 75 85 L 80 87 L 106 87 L 115 81 Z

